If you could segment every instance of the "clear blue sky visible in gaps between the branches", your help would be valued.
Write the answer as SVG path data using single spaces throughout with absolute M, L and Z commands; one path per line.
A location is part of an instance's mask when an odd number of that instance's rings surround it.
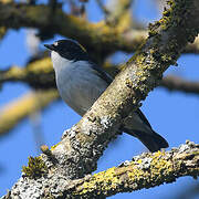
M 137 0 L 134 14 L 137 19 L 147 23 L 158 18 L 155 4 L 149 0 Z M 88 18 L 93 21 L 102 19 L 102 13 L 96 9 L 94 1 L 87 6 Z M 0 43 L 0 69 L 7 69 L 12 64 L 23 66 L 29 57 L 25 45 L 27 30 L 9 31 Z M 56 36 L 59 38 L 59 36 Z M 42 48 L 42 45 L 41 45 Z M 129 55 L 116 54 L 117 62 L 127 61 Z M 187 80 L 199 80 L 199 56 L 181 55 L 178 66 L 171 66 L 166 74 L 175 74 Z M 22 96 L 30 87 L 21 83 L 7 83 L 0 91 L 0 106 Z M 147 100 L 143 102 L 142 111 L 147 116 L 153 128 L 163 135 L 170 148 L 184 144 L 186 139 L 199 143 L 198 118 L 199 96 L 180 92 L 168 92 L 165 88 L 154 90 Z M 46 145 L 52 146 L 60 140 L 64 129 L 78 122 L 80 116 L 69 108 L 63 102 L 55 102 L 41 113 L 41 128 Z M 0 138 L 0 196 L 6 193 L 21 175 L 22 165 L 27 165 L 28 156 L 36 156 L 38 149 L 34 139 L 33 127 L 29 118 L 20 123 L 10 134 Z M 111 143 L 104 156 L 98 160 L 97 171 L 117 166 L 126 159 L 145 151 L 143 144 L 128 135 L 119 136 Z M 177 182 L 159 186 L 151 189 L 143 189 L 132 193 L 116 195 L 112 198 L 140 198 L 166 199 L 175 198 L 182 187 L 189 187 L 197 181 L 190 177 L 180 178 Z M 185 188 L 184 188 L 185 189 Z

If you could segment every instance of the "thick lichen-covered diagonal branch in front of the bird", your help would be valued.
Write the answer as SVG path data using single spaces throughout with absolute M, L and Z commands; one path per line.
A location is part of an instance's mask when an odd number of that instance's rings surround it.
M 63 192 L 63 181 L 81 178 L 96 169 L 97 159 L 118 134 L 124 119 L 139 106 L 139 102 L 146 98 L 163 73 L 176 63 L 187 43 L 193 42 L 199 32 L 198 0 L 172 0 L 169 4 L 163 18 L 150 24 L 149 38 L 114 82 L 51 153 L 31 160 L 33 163 L 25 169 L 29 178 L 21 178 L 11 195 L 33 198 L 43 196 L 48 189 L 51 197 L 57 197 Z M 53 186 L 50 179 L 53 179 Z M 59 186 L 54 186 L 55 182 Z M 43 186 L 45 189 L 41 189 Z

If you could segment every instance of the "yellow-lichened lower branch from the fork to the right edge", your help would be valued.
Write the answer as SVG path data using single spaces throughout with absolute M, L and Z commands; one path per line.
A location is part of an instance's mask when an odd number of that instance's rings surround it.
M 72 191 L 80 198 L 105 198 L 174 182 L 182 176 L 199 176 L 199 145 L 191 142 L 167 153 L 136 156 L 133 161 L 126 161 L 119 167 L 72 182 L 74 190 L 64 193 L 69 196 Z

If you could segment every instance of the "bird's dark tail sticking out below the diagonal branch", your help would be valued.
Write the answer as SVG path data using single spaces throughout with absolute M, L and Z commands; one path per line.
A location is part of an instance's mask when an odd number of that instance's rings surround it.
M 151 153 L 169 146 L 167 140 L 153 129 L 150 134 L 129 129 L 125 129 L 125 133 L 137 137 Z

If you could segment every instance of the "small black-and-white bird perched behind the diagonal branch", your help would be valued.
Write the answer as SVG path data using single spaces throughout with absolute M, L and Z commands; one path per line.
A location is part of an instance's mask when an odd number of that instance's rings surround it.
M 44 44 L 51 51 L 55 81 L 62 100 L 83 116 L 113 82 L 113 78 L 92 61 L 87 51 L 72 39 Z M 154 153 L 167 148 L 167 140 L 157 134 L 138 108 L 124 119 L 122 132 L 138 138 Z

